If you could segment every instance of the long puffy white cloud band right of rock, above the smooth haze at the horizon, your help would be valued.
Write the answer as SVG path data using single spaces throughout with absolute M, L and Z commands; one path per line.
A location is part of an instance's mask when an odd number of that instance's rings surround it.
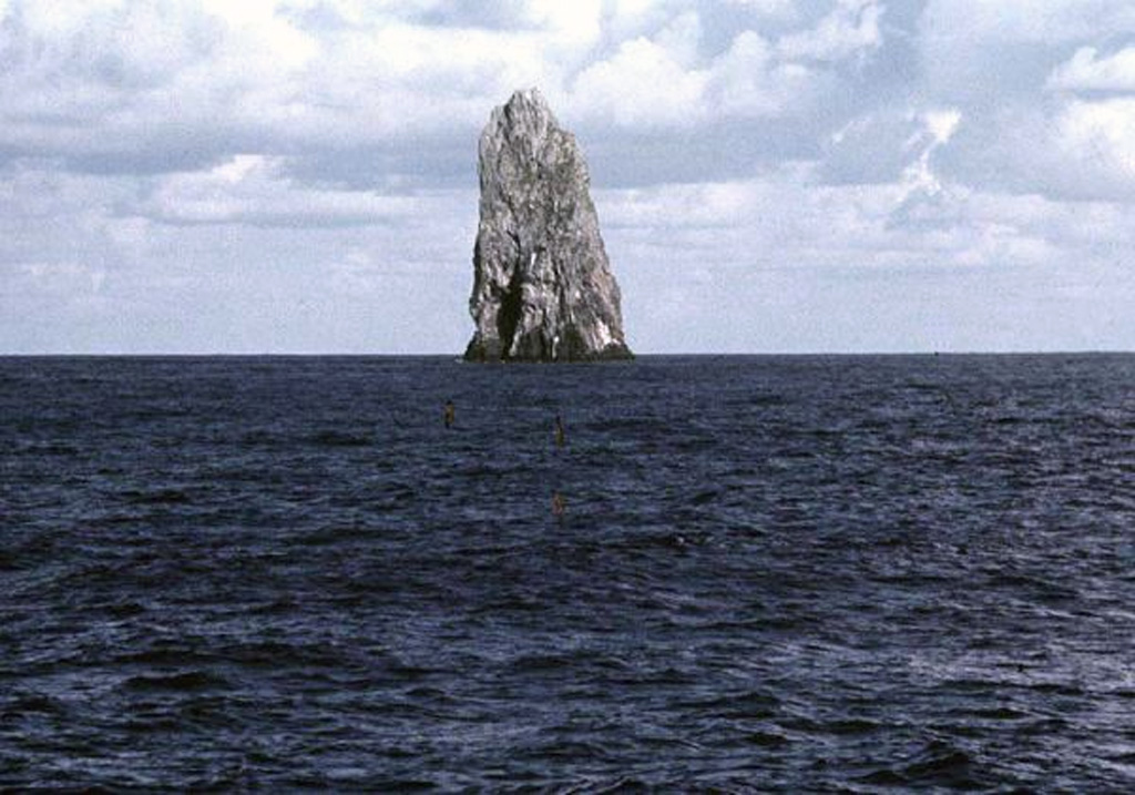
M 631 240 L 644 259 L 679 258 L 712 273 L 1054 265 L 1069 252 L 1099 259 L 1135 237 L 1126 214 L 1105 202 L 1066 206 L 958 186 L 931 195 L 910 176 L 872 185 L 825 185 L 816 176 L 794 166 L 730 183 L 603 192 L 599 207 L 616 251 Z M 908 217 L 896 223 L 903 210 Z M 1093 219 L 1090 231 L 1083 218 Z

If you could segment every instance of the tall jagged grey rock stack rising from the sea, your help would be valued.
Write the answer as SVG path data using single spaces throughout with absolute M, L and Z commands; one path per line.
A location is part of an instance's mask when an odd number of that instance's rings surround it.
M 470 361 L 630 359 L 587 164 L 536 89 L 481 133 Z

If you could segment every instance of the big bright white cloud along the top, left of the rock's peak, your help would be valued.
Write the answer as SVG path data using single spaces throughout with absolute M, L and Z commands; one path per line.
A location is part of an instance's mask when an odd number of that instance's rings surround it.
M 0 150 L 124 170 L 166 156 L 176 170 L 409 140 L 471 126 L 589 45 L 552 8 L 518 30 L 355 18 L 320 28 L 284 2 L 18 3 L 0 27 Z

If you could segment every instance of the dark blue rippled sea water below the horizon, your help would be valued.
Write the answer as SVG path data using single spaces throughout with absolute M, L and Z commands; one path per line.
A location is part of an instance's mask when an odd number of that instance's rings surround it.
M 0 786 L 1130 790 L 1133 386 L 0 359 Z

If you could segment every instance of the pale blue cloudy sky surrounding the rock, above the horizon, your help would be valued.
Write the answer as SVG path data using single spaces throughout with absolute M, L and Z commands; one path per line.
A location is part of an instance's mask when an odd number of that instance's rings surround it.
M 1130 0 L 0 0 L 0 354 L 460 353 L 531 86 L 638 353 L 1135 350 Z

